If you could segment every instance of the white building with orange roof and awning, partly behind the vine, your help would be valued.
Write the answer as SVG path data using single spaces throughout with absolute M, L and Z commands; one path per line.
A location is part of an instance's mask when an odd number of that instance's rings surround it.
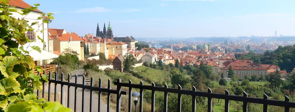
M 15 6 L 18 12 L 21 12 L 22 9 L 29 8 L 29 4 L 24 2 L 23 0 L 9 0 L 9 5 Z M 41 20 L 38 20 L 38 17 L 42 17 L 42 13 L 40 10 L 33 10 L 28 15 L 21 15 L 17 12 L 12 12 L 11 17 L 16 19 L 22 19 L 29 21 L 28 24 L 31 24 L 32 22 L 38 22 L 37 24 L 33 25 L 32 28 L 34 31 L 26 32 L 29 40 L 34 40 L 35 42 L 27 43 L 24 45 L 24 48 L 27 48 L 28 46 L 39 46 L 41 49 L 41 53 L 39 53 L 36 50 L 32 50 L 31 47 L 28 47 L 29 55 L 33 58 L 35 61 L 35 64 L 40 66 L 43 63 L 46 62 L 46 60 L 50 60 L 53 58 L 58 58 L 58 55 L 55 55 L 49 51 L 49 42 L 48 42 L 48 23 L 43 23 L 44 19 L 48 19 L 47 17 L 43 17 Z M 38 27 L 40 26 L 40 27 Z M 41 32 L 43 30 L 43 32 Z M 42 40 L 44 40 L 44 43 L 41 42 L 37 38 L 39 36 Z

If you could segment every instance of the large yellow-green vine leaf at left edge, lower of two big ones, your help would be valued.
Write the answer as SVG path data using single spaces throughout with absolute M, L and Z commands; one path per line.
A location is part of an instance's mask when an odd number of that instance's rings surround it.
M 10 93 L 21 92 L 21 85 L 16 79 L 4 78 L 0 81 L 0 95 L 9 95 Z

